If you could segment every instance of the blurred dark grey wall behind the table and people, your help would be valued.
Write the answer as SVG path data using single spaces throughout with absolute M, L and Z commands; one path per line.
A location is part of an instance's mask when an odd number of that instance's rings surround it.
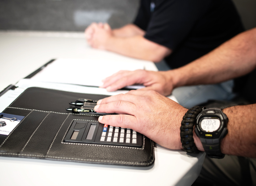
M 246 29 L 256 27 L 256 0 L 234 0 Z M 0 0 L 0 30 L 84 31 L 134 20 L 139 0 Z

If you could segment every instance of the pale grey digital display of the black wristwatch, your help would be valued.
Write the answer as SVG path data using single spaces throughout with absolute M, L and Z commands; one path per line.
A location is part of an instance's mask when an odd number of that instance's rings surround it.
M 214 132 L 220 127 L 220 121 L 214 117 L 204 117 L 201 120 L 201 129 L 205 132 Z

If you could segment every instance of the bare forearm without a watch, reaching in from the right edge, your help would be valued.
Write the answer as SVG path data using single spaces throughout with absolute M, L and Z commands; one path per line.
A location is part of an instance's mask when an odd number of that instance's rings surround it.
M 235 36 L 205 56 L 172 70 L 174 87 L 214 84 L 256 68 L 256 28 Z

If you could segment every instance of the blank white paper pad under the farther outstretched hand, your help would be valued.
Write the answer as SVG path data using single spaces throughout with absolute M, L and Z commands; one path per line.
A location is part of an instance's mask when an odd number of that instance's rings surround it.
M 120 70 L 145 69 L 138 61 L 113 59 L 58 59 L 31 79 L 74 85 L 101 86 L 102 80 Z

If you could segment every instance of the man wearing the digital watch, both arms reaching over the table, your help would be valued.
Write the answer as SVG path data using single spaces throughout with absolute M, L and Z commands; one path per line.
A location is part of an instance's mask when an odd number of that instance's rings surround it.
M 131 76 L 130 73 L 135 74 Z M 218 83 L 246 74 L 247 81 L 240 89 L 250 104 L 222 110 L 228 118 L 228 132 L 218 143 L 221 153 L 229 156 L 223 159 L 207 156 L 193 185 L 252 186 L 256 185 L 256 28 L 235 36 L 205 56 L 173 71 L 127 72 L 124 85 L 129 85 L 130 77 L 134 77 L 132 83 L 144 83 L 147 87 L 99 100 L 94 109 L 100 113 L 118 113 L 99 117 L 99 122 L 103 124 L 131 128 L 161 146 L 181 150 L 185 147 L 181 143 L 180 123 L 185 113 L 189 113 L 188 109 L 160 93 L 166 94 L 173 86 Z M 119 82 L 116 76 L 105 81 Z M 196 116 L 200 115 L 197 113 Z M 197 121 L 186 122 L 195 122 L 196 127 L 199 125 Z M 203 146 L 204 141 L 193 130 L 193 125 L 192 131 L 196 149 L 207 150 Z

